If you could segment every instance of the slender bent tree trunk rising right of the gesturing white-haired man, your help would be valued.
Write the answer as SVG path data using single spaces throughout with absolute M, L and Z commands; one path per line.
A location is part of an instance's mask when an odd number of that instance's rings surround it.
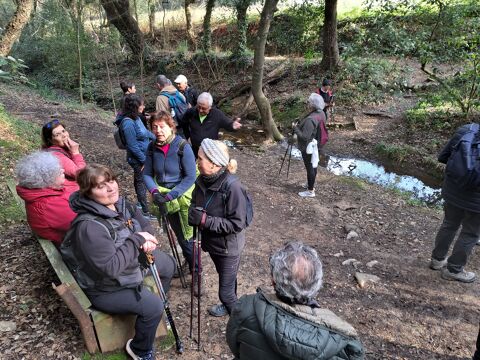
M 273 14 L 277 10 L 277 3 L 278 0 L 265 0 L 257 31 L 257 39 L 255 40 L 255 55 L 253 57 L 252 93 L 258 110 L 260 111 L 262 125 L 267 140 L 281 140 L 283 138 L 273 121 L 270 102 L 262 90 L 265 44 L 267 43 L 267 36 L 270 30 L 270 23 L 272 22 Z

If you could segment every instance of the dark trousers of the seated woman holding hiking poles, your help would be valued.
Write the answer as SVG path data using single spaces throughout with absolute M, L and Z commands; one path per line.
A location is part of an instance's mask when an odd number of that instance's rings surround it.
M 175 271 L 175 260 L 159 250 L 154 251 L 155 264 L 165 292 L 170 288 L 170 281 Z M 144 286 L 135 289 L 122 289 L 101 295 L 90 295 L 93 306 L 108 314 L 134 314 L 135 336 L 131 348 L 138 356 L 153 350 L 153 342 L 158 324 L 162 318 L 164 304 L 160 296 Z

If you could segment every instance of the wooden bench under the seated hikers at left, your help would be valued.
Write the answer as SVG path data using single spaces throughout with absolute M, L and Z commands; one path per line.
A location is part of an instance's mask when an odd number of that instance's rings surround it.
M 24 202 L 17 195 L 15 182 L 10 180 L 7 182 L 7 186 L 25 213 Z M 38 237 L 37 239 L 61 282 L 60 285 L 52 283 L 52 287 L 78 320 L 87 351 L 93 354 L 98 351 L 104 353 L 122 349 L 127 340 L 134 335 L 135 315 L 110 315 L 94 309 L 63 262 L 62 256 L 53 242 Z M 157 292 L 152 277 L 146 277 L 144 285 Z M 166 323 L 162 320 L 156 336 L 166 335 Z

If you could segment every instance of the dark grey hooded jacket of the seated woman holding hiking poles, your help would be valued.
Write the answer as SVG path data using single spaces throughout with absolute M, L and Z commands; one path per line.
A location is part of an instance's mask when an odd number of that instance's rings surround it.
M 112 225 L 109 229 L 96 219 L 86 219 L 72 228 L 71 237 L 69 233 L 65 237 L 64 245 L 71 242 L 75 257 L 81 264 L 80 268 L 73 269 L 73 275 L 77 281 L 82 274 L 87 275 L 83 279 L 88 281 L 82 282 L 80 279 L 79 283 L 89 295 L 134 288 L 143 281 L 138 255 L 145 239 L 136 232 L 146 231 L 153 234 L 154 231 L 151 224 L 134 207 L 136 213 L 133 214 L 128 228 L 125 219 L 130 218 L 131 214 L 129 207 L 124 205 L 124 199 L 120 197 L 115 204 L 117 211 L 113 211 L 80 195 L 78 191 L 70 196 L 70 207 L 78 216 L 87 214 L 103 218 Z M 114 231 L 113 238 L 110 230 Z

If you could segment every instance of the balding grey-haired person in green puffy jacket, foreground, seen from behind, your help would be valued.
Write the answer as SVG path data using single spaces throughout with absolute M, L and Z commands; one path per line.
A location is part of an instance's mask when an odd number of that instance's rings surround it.
M 242 296 L 230 315 L 235 359 L 364 359 L 355 329 L 315 300 L 323 279 L 315 249 L 289 242 L 270 257 L 270 271 L 275 294 Z

